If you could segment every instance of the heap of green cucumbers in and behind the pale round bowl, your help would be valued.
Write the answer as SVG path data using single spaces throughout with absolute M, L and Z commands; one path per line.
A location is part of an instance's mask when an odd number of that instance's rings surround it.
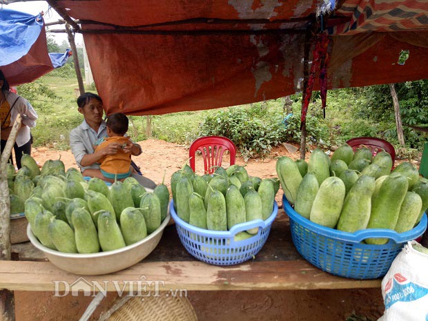
M 60 160 L 48 162 L 56 162 L 55 170 L 50 166 L 50 171 L 43 171 L 43 164 L 40 171 L 34 162 L 37 175 L 28 172 L 28 166 L 14 173 L 11 210 L 25 212 L 32 233 L 50 249 L 66 253 L 120 249 L 153 233 L 166 218 L 169 191 L 164 184 L 152 193 L 128 177 L 108 187 L 96 177 L 86 182 L 76 168 L 65 171 Z

